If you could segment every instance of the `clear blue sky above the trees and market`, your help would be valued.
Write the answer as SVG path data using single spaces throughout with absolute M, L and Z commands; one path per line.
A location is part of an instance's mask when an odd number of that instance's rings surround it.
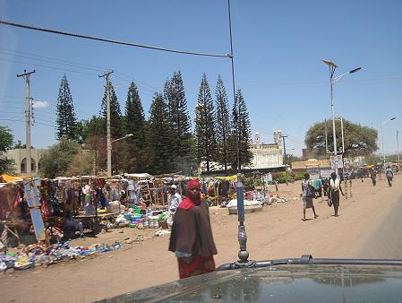
M 230 53 L 226 0 L 205 1 L 12 1 L 0 0 L 0 16 L 9 22 L 83 35 L 215 54 Z M 287 151 L 301 154 L 304 134 L 315 122 L 331 117 L 329 70 L 322 58 L 337 63 L 338 74 L 357 66 L 334 88 L 337 116 L 380 129 L 385 151 L 397 151 L 402 131 L 402 2 L 371 1 L 244 1 L 232 0 L 236 87 L 244 92 L 252 134 L 273 142 L 282 129 Z M 25 142 L 24 69 L 31 76 L 35 108 L 31 143 L 55 143 L 56 102 L 66 74 L 77 116 L 98 114 L 104 80 L 111 80 L 124 110 L 131 81 L 139 87 L 148 117 L 154 92 L 162 91 L 176 71 L 184 77 L 188 108 L 194 106 L 206 73 L 212 91 L 220 74 L 232 106 L 228 58 L 189 56 L 0 25 L 0 125 Z M 402 144 L 400 144 L 402 146 Z M 381 146 L 381 138 L 380 138 Z M 401 149 L 401 148 L 400 148 Z

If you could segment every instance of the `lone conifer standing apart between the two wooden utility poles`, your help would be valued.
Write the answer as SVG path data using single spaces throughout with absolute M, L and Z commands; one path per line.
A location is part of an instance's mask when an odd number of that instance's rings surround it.
M 77 118 L 75 117 L 73 97 L 67 77 L 63 76 L 58 91 L 56 107 L 56 138 L 77 139 Z

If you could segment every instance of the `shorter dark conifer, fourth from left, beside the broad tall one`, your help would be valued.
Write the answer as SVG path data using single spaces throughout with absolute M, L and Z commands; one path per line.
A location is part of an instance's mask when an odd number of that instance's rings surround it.
M 161 174 L 174 169 L 172 158 L 172 136 L 169 132 L 167 104 L 160 93 L 150 105 L 150 172 Z

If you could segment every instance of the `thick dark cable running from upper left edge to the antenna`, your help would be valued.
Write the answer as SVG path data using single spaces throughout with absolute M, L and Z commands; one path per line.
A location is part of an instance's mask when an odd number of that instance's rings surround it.
M 229 54 L 227 54 L 227 55 L 217 55 L 217 54 L 189 52 L 189 51 L 184 51 L 184 50 L 175 50 L 175 49 L 169 49 L 169 48 L 158 48 L 158 47 L 152 47 L 152 46 L 147 46 L 147 45 L 142 45 L 142 44 L 137 44 L 137 43 L 131 43 L 131 42 L 125 42 L 125 41 L 119 41 L 119 40 L 104 39 L 104 38 L 98 38 L 98 37 L 93 37 L 93 36 L 75 34 L 75 33 L 67 32 L 67 31 L 44 29 L 44 28 L 39 28 L 39 27 L 36 27 L 36 26 L 27 25 L 27 24 L 21 24 L 21 23 L 16 23 L 16 22 L 7 22 L 7 21 L 4 21 L 4 20 L 0 20 L 0 24 L 20 27 L 22 29 L 28 29 L 28 30 L 45 31 L 45 32 L 50 32 L 50 33 L 54 33 L 54 34 L 58 34 L 58 35 L 70 36 L 70 37 L 75 37 L 75 38 L 91 39 L 91 40 L 97 40 L 97 41 L 101 41 L 101 42 L 108 42 L 108 43 L 114 43 L 114 44 L 121 44 L 121 45 L 129 46 L 129 47 L 136 47 L 136 48 L 149 48 L 149 49 L 160 50 L 160 51 L 171 52 L 171 53 L 178 53 L 178 54 L 195 55 L 195 56 L 233 57 L 233 56 L 231 56 Z

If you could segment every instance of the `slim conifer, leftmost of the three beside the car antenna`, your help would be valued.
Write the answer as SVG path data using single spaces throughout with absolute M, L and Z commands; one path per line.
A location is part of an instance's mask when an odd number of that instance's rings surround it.
M 197 140 L 197 158 L 207 163 L 207 173 L 210 173 L 210 161 L 216 159 L 216 121 L 214 103 L 210 94 L 210 84 L 207 75 L 202 75 L 198 105 L 195 112 L 195 136 Z

